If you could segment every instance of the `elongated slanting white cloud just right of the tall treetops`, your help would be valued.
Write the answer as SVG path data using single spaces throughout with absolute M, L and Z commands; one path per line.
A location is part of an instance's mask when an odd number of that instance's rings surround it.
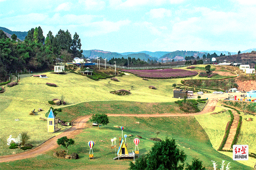
M 120 20 L 118 22 L 110 22 L 107 20 L 84 24 L 84 27 L 89 27 L 84 32 L 85 36 L 93 37 L 119 31 L 121 27 L 131 23 L 130 20 Z

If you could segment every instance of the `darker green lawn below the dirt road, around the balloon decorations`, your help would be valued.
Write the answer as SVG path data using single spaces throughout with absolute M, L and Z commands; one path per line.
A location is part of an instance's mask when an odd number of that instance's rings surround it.
M 138 118 L 138 117 L 109 117 L 109 124 L 100 129 L 97 127 L 84 129 L 83 133 L 77 135 L 75 144 L 69 148 L 69 153 L 76 152 L 78 160 L 66 160 L 53 157 L 53 151 L 36 158 L 19 160 L 14 162 L 0 163 L 3 169 L 128 169 L 132 159 L 113 160 L 115 151 L 110 148 L 113 137 L 119 138 L 122 131 L 113 126 L 124 126 L 124 134 L 132 134 L 127 137 L 128 151 L 134 151 L 133 139 L 136 135 L 142 136 L 138 145 L 140 154 L 147 154 L 153 145 L 150 137 L 156 137 L 155 132 L 160 131 L 159 138 L 166 136 L 174 138 L 180 150 L 186 153 L 187 161 L 191 164 L 194 157 L 202 160 L 207 169 L 212 169 L 211 160 L 220 163 L 222 160 L 231 162 L 233 169 L 249 170 L 248 166 L 233 161 L 230 157 L 220 154 L 212 147 L 212 144 L 194 117 L 161 117 L 161 118 Z M 136 124 L 135 122 L 140 122 Z M 93 140 L 94 160 L 89 160 L 88 141 Z M 102 141 L 101 141 L 102 140 Z M 59 147 L 56 151 L 61 150 Z

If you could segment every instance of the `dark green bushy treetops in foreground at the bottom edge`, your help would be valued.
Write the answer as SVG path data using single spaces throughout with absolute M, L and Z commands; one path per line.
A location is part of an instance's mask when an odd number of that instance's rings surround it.
M 166 138 L 156 142 L 149 154 L 140 156 L 135 163 L 130 163 L 130 170 L 205 170 L 202 162 L 194 158 L 192 164 L 185 165 L 187 156 L 180 151 L 174 139 Z

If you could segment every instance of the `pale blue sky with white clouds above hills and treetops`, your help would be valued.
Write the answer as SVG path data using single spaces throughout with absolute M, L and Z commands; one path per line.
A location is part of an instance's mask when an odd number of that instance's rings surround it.
M 83 50 L 237 52 L 256 47 L 256 0 L 0 0 L 0 27 L 38 26 Z

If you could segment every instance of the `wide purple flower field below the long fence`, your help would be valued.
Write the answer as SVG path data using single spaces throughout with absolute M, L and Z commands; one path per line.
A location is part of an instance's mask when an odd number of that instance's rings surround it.
M 198 73 L 194 71 L 182 69 L 164 69 L 164 70 L 122 70 L 135 76 L 151 79 L 173 79 L 196 76 Z

